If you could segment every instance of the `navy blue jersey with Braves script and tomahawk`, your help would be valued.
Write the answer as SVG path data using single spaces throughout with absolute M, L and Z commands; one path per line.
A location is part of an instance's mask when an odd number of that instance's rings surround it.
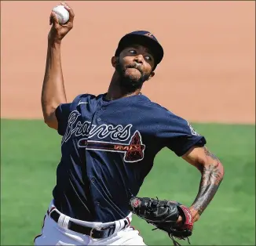
M 60 212 L 75 219 L 123 219 L 159 150 L 182 156 L 206 143 L 188 121 L 146 96 L 105 95 L 79 95 L 56 110 L 63 138 L 53 198 Z

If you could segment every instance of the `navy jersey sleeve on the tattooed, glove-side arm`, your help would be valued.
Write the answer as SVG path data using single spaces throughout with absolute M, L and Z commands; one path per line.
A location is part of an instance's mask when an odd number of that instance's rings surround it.
M 184 118 L 181 118 L 166 110 L 165 117 L 160 118 L 158 137 L 163 146 L 174 151 L 181 157 L 194 146 L 203 147 L 207 140 L 192 128 Z

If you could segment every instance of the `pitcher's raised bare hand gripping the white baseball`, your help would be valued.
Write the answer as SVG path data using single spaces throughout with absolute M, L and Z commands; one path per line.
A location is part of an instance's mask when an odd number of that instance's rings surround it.
M 61 2 L 60 4 L 64 5 L 64 8 L 68 10 L 69 20 L 66 24 L 60 25 L 56 14 L 54 12 L 51 12 L 49 16 L 49 24 L 52 25 L 52 28 L 49 31 L 48 35 L 49 42 L 60 43 L 62 38 L 64 38 L 64 36 L 68 34 L 68 32 L 71 31 L 71 29 L 73 28 L 73 22 L 75 17 L 73 9 L 71 9 L 71 7 L 65 2 Z

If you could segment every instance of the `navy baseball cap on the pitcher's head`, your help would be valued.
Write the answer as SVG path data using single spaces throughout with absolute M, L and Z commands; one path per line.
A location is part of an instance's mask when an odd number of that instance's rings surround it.
M 133 31 L 123 36 L 123 38 L 121 38 L 119 41 L 118 48 L 115 51 L 115 56 L 119 56 L 123 49 L 132 44 L 144 45 L 145 47 L 148 47 L 154 56 L 155 67 L 163 59 L 163 47 L 159 44 L 155 36 L 149 31 Z

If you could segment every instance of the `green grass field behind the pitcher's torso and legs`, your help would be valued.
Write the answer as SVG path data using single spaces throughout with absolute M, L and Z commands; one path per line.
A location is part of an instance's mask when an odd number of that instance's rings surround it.
M 193 124 L 225 166 L 225 179 L 196 222 L 192 245 L 255 245 L 254 125 Z M 60 160 L 60 136 L 42 121 L 1 121 L 1 245 L 31 245 L 52 199 Z M 140 196 L 190 205 L 200 175 L 196 168 L 162 150 Z M 166 233 L 133 216 L 148 245 L 173 245 Z M 186 241 L 180 241 L 188 245 Z

